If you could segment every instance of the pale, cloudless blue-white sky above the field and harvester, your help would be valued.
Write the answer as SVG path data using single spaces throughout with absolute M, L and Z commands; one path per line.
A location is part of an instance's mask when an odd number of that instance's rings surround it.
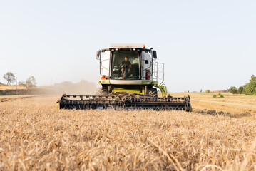
M 256 75 L 256 1 L 0 0 L 0 82 L 98 83 L 95 53 L 145 43 L 169 91 L 227 89 Z

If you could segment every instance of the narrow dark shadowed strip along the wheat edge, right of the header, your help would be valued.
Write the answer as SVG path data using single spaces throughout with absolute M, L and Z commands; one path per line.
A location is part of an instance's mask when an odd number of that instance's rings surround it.
M 200 113 L 202 115 L 224 115 L 224 116 L 229 116 L 230 118 L 242 118 L 242 117 L 250 117 L 252 114 L 246 112 L 246 113 L 240 113 L 240 114 L 232 114 L 232 113 L 227 113 L 223 111 L 217 111 L 217 110 L 196 110 L 194 113 Z

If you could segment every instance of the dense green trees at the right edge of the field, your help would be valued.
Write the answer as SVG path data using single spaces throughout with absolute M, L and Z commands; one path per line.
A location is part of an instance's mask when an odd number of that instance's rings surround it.
M 239 88 L 231 86 L 228 90 L 232 94 L 256 95 L 256 77 L 252 75 L 249 83 L 246 83 L 244 86 L 240 86 Z

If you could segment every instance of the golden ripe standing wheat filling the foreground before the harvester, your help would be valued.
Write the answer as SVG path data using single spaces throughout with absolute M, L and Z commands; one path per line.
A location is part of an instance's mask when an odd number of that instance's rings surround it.
M 256 170 L 255 115 L 58 110 L 56 96 L 5 99 L 0 170 Z

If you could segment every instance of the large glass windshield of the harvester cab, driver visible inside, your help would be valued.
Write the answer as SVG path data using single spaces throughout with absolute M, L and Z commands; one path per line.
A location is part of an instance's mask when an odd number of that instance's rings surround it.
M 111 63 L 112 79 L 140 79 L 140 56 L 138 51 L 113 51 Z

